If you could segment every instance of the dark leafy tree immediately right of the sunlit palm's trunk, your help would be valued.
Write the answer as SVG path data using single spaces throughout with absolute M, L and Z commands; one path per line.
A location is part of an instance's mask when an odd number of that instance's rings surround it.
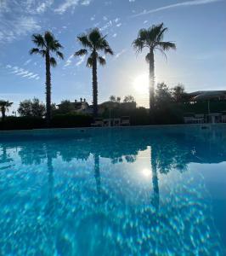
M 170 102 L 172 102 L 172 94 L 167 84 L 157 84 L 157 88 L 155 90 L 156 107 L 165 108 Z

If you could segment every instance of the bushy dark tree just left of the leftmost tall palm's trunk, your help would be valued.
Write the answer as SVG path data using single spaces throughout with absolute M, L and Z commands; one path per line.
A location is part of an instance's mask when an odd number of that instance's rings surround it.
M 33 116 L 42 118 L 46 113 L 46 108 L 42 102 L 39 102 L 37 98 L 34 98 L 32 101 L 25 100 L 20 102 L 20 106 L 17 111 L 20 116 Z

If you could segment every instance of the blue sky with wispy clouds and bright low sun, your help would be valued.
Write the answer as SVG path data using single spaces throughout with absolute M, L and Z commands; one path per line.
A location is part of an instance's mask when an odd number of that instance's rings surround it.
M 155 81 L 187 91 L 226 90 L 226 0 L 0 0 L 0 99 L 38 97 L 45 102 L 45 63 L 29 55 L 31 35 L 47 30 L 63 44 L 64 61 L 52 69 L 52 101 L 86 98 L 92 102 L 92 73 L 76 36 L 99 27 L 114 56 L 98 67 L 99 102 L 110 95 L 133 95 L 148 105 L 147 53 L 132 42 L 140 28 L 163 22 L 165 40 L 177 44 L 167 59 L 155 52 Z

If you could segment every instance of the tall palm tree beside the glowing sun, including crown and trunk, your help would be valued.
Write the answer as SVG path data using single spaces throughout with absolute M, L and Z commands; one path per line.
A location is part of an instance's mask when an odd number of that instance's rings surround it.
M 165 51 L 176 49 L 176 44 L 172 42 L 164 42 L 163 37 L 167 32 L 167 27 L 163 23 L 150 26 L 149 29 L 141 29 L 138 32 L 138 38 L 133 41 L 133 47 L 138 53 L 141 53 L 144 48 L 149 49 L 146 55 L 146 61 L 150 65 L 150 112 L 155 107 L 155 60 L 154 52 L 160 50 L 165 55 Z

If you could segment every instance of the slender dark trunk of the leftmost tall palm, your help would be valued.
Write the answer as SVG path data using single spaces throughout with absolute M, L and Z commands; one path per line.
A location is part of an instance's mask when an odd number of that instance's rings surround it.
M 50 56 L 46 54 L 46 120 L 47 125 L 50 125 L 51 119 L 51 73 L 50 73 Z

